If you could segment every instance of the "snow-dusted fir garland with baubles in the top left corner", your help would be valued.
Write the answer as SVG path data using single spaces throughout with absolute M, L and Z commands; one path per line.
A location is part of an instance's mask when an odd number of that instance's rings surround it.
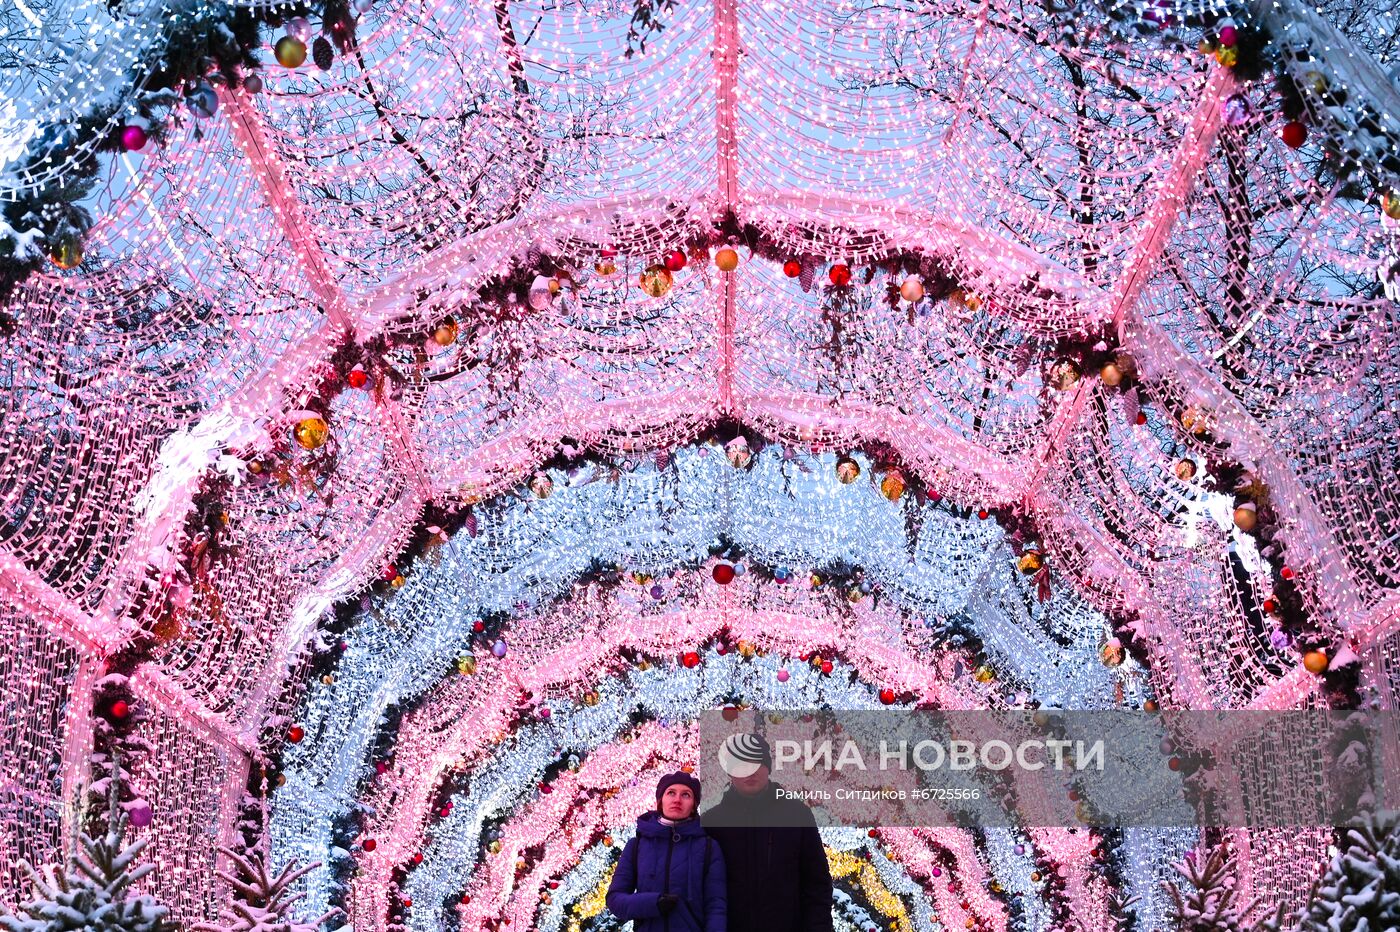
M 276 0 L 245 4 L 189 0 L 160 18 L 151 48 L 127 76 L 126 92 L 34 137 L 11 172 L 21 185 L 0 203 L 0 302 L 50 262 L 60 270 L 84 260 L 92 216 L 83 202 L 92 193 L 106 153 L 143 153 L 161 146 L 172 125 L 213 119 L 216 87 L 262 91 L 266 31 L 284 29 L 273 55 L 286 69 L 301 67 L 308 45 L 322 70 L 337 53 L 354 49 L 356 20 L 372 0 Z M 113 7 L 115 14 L 120 14 Z M 312 21 L 319 22 L 319 35 Z M 202 133 L 196 123 L 195 136 Z

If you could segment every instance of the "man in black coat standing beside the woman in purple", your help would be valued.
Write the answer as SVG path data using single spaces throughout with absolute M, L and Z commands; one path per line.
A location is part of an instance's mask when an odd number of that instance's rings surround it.
M 832 932 L 832 872 L 812 810 L 769 779 L 757 735 L 734 735 L 721 754 L 724 799 L 701 823 L 724 852 L 729 932 Z

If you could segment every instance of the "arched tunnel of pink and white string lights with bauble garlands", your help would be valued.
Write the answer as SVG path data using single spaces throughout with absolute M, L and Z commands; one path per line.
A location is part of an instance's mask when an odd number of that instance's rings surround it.
M 115 799 L 186 928 L 610 928 L 707 708 L 1394 708 L 1372 6 L 11 4 L 0 911 Z M 860 932 L 1201 844 L 823 841 Z

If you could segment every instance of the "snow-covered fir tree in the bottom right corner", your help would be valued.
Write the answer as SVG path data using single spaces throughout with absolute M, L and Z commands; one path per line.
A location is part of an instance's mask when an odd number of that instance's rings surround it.
M 1364 813 L 1299 917 L 1299 932 L 1400 929 L 1400 812 Z

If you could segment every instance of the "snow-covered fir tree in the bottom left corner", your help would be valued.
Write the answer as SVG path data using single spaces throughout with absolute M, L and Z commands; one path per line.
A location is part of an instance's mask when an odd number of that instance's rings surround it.
M 101 835 L 84 833 L 64 868 L 35 870 L 21 862 L 34 882 L 34 898 L 15 915 L 0 917 L 7 932 L 165 932 L 169 910 L 132 884 L 154 870 L 137 865 L 148 838 L 126 844 L 127 814 L 119 798 L 119 770 L 108 781 L 106 826 Z

